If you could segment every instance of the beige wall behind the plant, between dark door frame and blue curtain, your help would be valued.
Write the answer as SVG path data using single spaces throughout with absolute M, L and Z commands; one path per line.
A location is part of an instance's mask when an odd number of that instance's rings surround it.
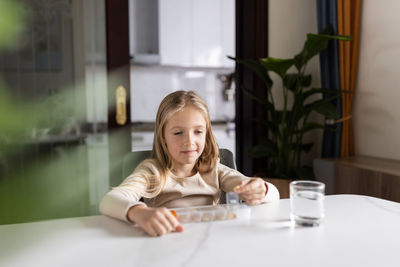
M 315 0 L 272 0 L 269 1 L 269 56 L 291 58 L 298 54 L 304 45 L 307 33 L 317 33 L 317 5 Z M 319 57 L 316 56 L 308 64 L 308 73 L 312 74 L 312 86 L 320 87 Z M 274 77 L 274 84 L 280 82 Z M 275 88 L 278 96 L 280 88 Z M 322 121 L 322 117 L 314 114 L 314 118 Z M 313 118 L 311 118 L 313 119 Z M 314 148 L 304 157 L 304 162 L 312 163 L 312 159 L 320 157 L 322 131 L 317 130 L 305 137 L 305 141 L 314 141 Z

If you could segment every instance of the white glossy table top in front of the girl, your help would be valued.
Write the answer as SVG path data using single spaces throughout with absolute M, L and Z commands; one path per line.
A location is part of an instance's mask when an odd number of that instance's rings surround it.
M 248 221 L 185 224 L 148 237 L 105 216 L 0 226 L 0 266 L 400 266 L 400 204 L 333 195 L 319 227 L 293 227 L 289 200 Z

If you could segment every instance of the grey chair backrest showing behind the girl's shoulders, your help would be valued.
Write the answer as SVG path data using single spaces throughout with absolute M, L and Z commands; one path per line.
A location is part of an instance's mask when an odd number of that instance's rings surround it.
M 151 150 L 129 152 L 122 162 L 122 180 L 133 172 L 140 162 L 151 156 Z M 229 149 L 219 149 L 220 162 L 229 168 L 236 170 L 236 163 L 233 153 Z

